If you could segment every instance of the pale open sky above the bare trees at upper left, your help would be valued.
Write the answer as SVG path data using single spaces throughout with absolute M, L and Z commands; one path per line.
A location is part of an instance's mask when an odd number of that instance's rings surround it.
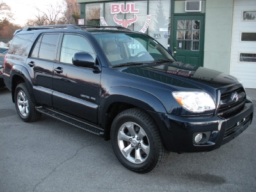
M 12 9 L 13 19 L 10 22 L 24 26 L 28 19 L 36 19 L 36 8 L 46 11 L 49 4 L 62 3 L 62 0 L 0 0 Z

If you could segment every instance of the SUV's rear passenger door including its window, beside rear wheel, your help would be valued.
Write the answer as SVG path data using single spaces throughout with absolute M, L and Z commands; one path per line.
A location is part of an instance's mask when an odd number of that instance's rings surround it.
M 39 36 L 26 63 L 33 70 L 33 90 L 37 103 L 52 106 L 52 71 L 56 62 L 60 33 Z

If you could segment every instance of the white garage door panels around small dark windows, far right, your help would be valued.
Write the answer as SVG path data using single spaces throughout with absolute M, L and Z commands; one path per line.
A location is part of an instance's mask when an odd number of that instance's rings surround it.
M 256 53 L 256 42 L 241 42 L 242 32 L 256 33 L 256 20 L 243 21 L 244 11 L 256 11 L 255 0 L 234 0 L 230 74 L 238 77 L 245 88 L 256 88 L 256 62 L 240 62 L 239 54 Z

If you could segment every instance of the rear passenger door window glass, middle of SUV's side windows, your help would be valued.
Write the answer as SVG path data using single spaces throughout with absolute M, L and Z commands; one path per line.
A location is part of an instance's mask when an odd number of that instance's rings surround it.
M 58 33 L 44 34 L 40 36 L 36 42 L 31 57 L 42 60 L 56 60 L 58 37 Z

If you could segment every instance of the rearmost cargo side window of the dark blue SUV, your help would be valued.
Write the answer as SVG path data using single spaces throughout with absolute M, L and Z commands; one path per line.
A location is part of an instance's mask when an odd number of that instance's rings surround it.
M 33 33 L 16 35 L 12 40 L 8 53 L 28 56 L 33 44 L 33 41 L 30 40 L 32 36 Z

